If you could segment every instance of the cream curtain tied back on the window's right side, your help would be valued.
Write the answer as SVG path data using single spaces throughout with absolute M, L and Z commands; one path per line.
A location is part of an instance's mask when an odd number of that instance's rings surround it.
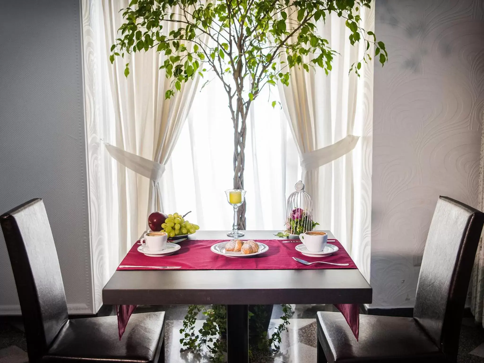
M 361 11 L 363 28 L 373 29 L 373 7 Z M 322 229 L 333 231 L 369 278 L 363 254 L 369 253 L 369 245 L 364 245 L 369 243 L 365 234 L 370 225 L 369 220 L 362 220 L 369 218 L 365 215 L 369 205 L 364 205 L 362 195 L 369 193 L 371 183 L 371 165 L 365 171 L 368 165 L 363 164 L 368 163 L 365 157 L 371 152 L 371 126 L 370 135 L 367 131 L 372 119 L 364 111 L 372 92 L 373 82 L 367 73 L 372 75 L 368 68 L 373 64 L 363 64 L 360 78 L 348 74 L 351 64 L 362 59 L 365 44 L 349 44 L 345 19 L 333 13 L 324 25 L 318 24 L 318 30 L 339 53 L 333 59 L 333 70 L 326 76 L 321 69 L 308 73 L 295 68 L 289 86 L 279 85 L 279 91 L 298 146 L 303 181 L 313 197 L 314 219 Z M 365 139 L 359 141 L 360 136 Z M 369 175 L 362 175 L 362 168 Z

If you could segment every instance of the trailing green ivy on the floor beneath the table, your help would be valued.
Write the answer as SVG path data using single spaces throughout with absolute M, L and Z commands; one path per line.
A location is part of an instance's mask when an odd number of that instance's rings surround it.
M 281 333 L 287 330 L 289 318 L 293 312 L 291 306 L 282 304 L 283 315 L 282 323 L 279 324 L 274 333 L 269 336 L 267 330 L 262 325 L 262 321 L 267 318 L 267 311 L 263 305 L 255 305 L 254 312 L 249 312 L 249 325 L 254 324 L 257 333 L 257 349 L 267 352 L 278 351 L 281 343 Z M 202 312 L 207 317 L 202 328 L 195 332 L 195 322 L 198 313 Z M 222 363 L 224 361 L 224 352 L 227 351 L 227 341 L 223 334 L 227 331 L 227 309 L 226 305 L 212 305 L 206 309 L 204 305 L 190 305 L 187 314 L 183 319 L 183 328 L 180 329 L 182 335 L 180 343 L 185 347 L 183 350 L 192 350 L 199 352 L 202 347 L 207 348 L 211 355 L 212 361 Z M 252 351 L 249 349 L 249 355 Z

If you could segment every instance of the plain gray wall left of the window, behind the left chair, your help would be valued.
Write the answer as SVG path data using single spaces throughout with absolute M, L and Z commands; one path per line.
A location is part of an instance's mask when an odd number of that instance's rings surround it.
M 71 313 L 92 311 L 79 0 L 3 1 L 0 212 L 44 198 Z M 0 233 L 0 314 L 19 313 Z

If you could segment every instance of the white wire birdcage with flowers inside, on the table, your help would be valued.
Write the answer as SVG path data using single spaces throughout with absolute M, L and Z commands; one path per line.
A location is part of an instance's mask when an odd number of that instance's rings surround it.
M 313 230 L 313 199 L 304 191 L 304 183 L 300 180 L 294 186 L 287 198 L 286 233 L 300 235 Z

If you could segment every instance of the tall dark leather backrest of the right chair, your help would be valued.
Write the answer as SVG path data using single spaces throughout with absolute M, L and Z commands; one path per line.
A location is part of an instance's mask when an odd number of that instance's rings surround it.
M 452 360 L 483 223 L 484 213 L 439 197 L 423 252 L 413 316 Z

